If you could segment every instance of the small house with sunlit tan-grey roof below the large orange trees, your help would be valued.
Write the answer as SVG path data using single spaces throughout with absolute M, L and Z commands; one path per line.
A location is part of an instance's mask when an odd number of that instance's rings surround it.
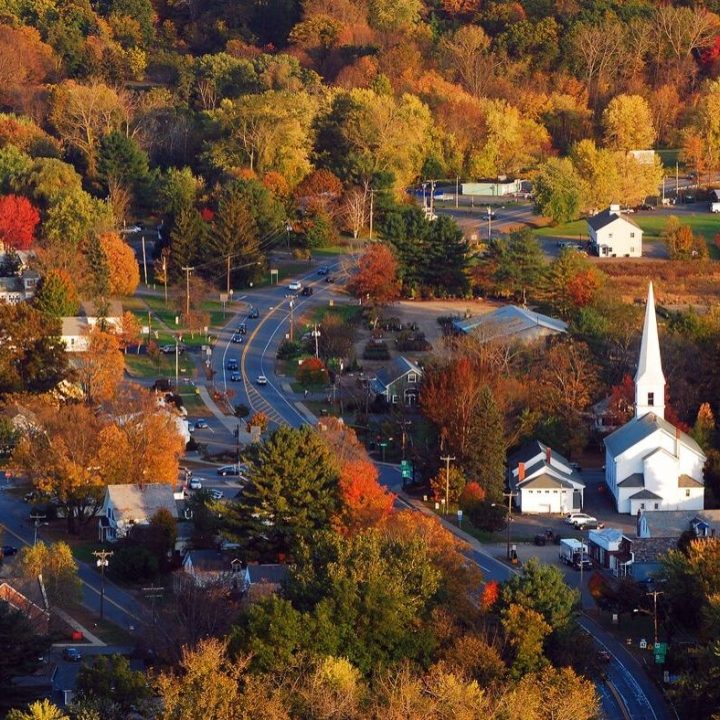
M 158 510 L 167 510 L 177 519 L 171 485 L 108 485 L 98 518 L 100 542 L 115 542 L 126 537 L 134 525 L 148 525 Z

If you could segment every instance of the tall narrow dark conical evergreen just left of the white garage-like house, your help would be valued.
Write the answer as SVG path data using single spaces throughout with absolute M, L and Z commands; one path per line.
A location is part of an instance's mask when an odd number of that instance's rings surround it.
M 485 490 L 489 502 L 501 502 L 505 487 L 503 417 L 489 387 L 480 391 L 472 420 L 472 442 L 464 461 L 468 477 Z

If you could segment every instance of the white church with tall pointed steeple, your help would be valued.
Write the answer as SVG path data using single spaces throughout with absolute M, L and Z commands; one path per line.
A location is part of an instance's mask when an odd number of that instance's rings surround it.
M 605 438 L 605 482 L 621 513 L 702 510 L 704 465 L 705 454 L 695 440 L 665 419 L 665 376 L 650 283 L 635 375 L 635 417 Z

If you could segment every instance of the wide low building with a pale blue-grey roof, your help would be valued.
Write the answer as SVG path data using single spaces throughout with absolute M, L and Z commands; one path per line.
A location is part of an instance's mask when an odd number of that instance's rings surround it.
M 463 320 L 453 320 L 456 332 L 472 333 L 481 341 L 532 343 L 541 338 L 567 332 L 567 323 L 517 305 L 504 305 L 492 312 Z

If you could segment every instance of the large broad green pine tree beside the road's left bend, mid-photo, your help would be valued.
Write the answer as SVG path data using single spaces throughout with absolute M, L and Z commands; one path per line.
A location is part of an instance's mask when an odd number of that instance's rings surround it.
M 254 453 L 250 482 L 224 511 L 226 533 L 257 556 L 277 560 L 329 526 L 337 471 L 327 445 L 307 427 L 280 427 Z

